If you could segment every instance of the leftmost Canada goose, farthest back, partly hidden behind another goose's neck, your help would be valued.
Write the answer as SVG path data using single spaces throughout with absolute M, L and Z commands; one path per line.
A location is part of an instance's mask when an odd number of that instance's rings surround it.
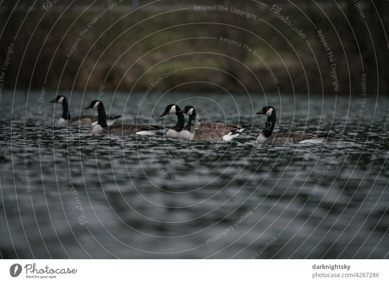
M 59 126 L 78 126 L 78 125 L 96 125 L 97 120 L 93 115 L 81 115 L 77 117 L 70 117 L 69 103 L 65 96 L 58 95 L 54 100 L 50 101 L 51 103 L 62 103 L 62 117 L 59 118 Z M 107 124 L 112 125 L 115 123 L 115 119 L 121 117 L 122 115 L 108 115 L 106 117 Z

